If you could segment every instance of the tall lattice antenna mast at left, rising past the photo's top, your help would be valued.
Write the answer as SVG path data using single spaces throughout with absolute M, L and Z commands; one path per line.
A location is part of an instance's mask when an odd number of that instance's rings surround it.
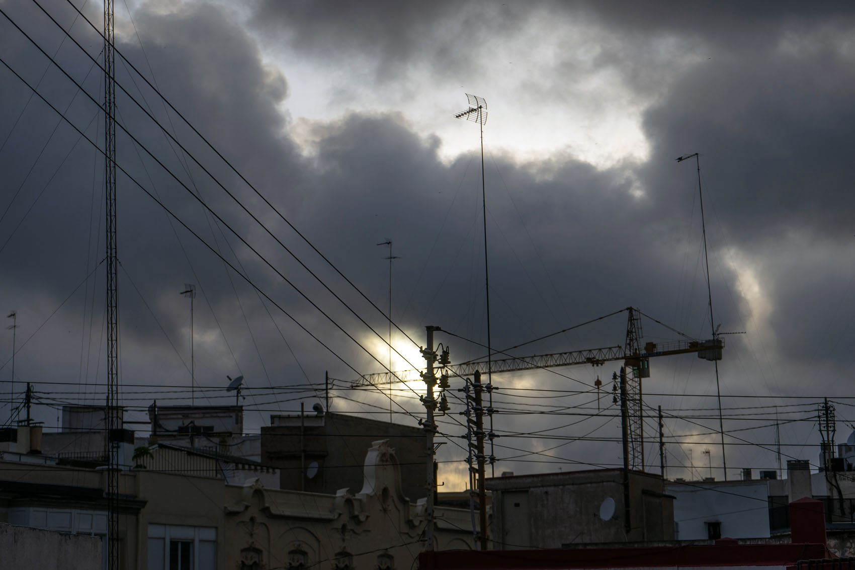
M 119 570 L 119 300 L 115 218 L 115 48 L 113 0 L 104 0 L 104 184 L 107 194 L 107 567 Z

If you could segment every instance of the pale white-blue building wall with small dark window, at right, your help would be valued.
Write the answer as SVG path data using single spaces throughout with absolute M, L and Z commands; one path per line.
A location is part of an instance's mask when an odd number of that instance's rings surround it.
M 719 522 L 722 537 L 769 537 L 769 486 L 764 480 L 732 483 L 669 483 L 675 496 L 677 540 L 706 540 L 707 524 Z

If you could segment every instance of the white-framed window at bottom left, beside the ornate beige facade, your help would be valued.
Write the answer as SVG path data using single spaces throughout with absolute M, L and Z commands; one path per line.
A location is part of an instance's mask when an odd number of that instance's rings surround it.
M 149 525 L 149 570 L 215 570 L 216 529 Z

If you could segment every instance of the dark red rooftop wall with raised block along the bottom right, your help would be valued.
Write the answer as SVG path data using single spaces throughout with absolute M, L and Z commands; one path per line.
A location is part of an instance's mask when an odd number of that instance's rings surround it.
M 640 548 L 445 550 L 422 552 L 420 570 L 561 570 L 563 568 L 717 568 L 761 567 L 784 570 L 799 561 L 834 558 L 825 535 L 823 502 L 790 503 L 792 543 L 740 544 L 721 538 L 714 544 L 680 544 Z M 822 566 L 822 565 L 821 565 Z

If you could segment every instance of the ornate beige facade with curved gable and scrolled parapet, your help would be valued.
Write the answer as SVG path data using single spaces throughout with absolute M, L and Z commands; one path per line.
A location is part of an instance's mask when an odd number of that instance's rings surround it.
M 246 568 L 409 570 L 424 548 L 425 503 L 404 496 L 387 442 L 369 449 L 363 482 L 355 494 L 343 489 L 334 496 L 228 485 L 227 560 Z M 468 511 L 438 508 L 435 514 L 435 549 L 472 548 Z

